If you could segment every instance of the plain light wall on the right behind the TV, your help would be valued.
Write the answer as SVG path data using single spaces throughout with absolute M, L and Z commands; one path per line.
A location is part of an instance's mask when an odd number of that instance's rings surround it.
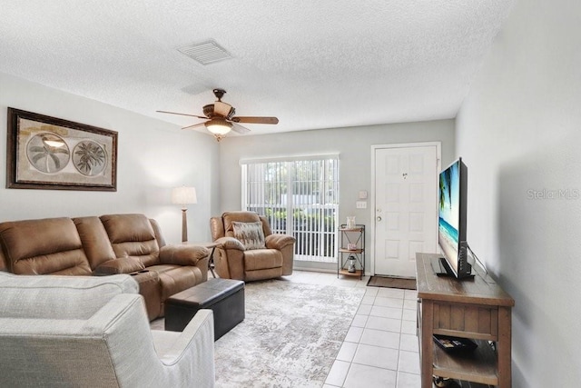
M 514 387 L 581 382 L 580 20 L 517 2 L 457 118 L 468 242 L 516 301 Z

